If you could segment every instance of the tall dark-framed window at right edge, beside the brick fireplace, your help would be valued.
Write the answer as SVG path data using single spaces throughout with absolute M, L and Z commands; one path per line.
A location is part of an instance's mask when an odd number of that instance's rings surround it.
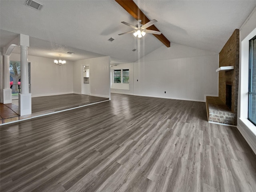
M 256 36 L 249 41 L 248 119 L 256 125 Z

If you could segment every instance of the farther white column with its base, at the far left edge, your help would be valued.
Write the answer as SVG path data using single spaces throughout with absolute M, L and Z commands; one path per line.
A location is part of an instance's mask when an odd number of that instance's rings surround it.
M 12 103 L 12 89 L 10 89 L 10 56 L 4 55 L 4 104 Z

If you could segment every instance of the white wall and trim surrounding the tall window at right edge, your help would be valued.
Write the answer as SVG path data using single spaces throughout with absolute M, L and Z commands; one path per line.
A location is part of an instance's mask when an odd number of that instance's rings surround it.
M 256 8 L 240 28 L 238 130 L 256 154 L 256 126 L 248 120 L 249 40 L 256 36 Z

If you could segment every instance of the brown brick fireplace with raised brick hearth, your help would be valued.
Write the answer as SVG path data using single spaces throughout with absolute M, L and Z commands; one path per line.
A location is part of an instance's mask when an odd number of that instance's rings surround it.
M 219 67 L 233 66 L 232 70 L 219 70 L 219 96 L 206 97 L 208 120 L 223 124 L 237 124 L 239 77 L 239 30 L 234 30 L 219 54 Z

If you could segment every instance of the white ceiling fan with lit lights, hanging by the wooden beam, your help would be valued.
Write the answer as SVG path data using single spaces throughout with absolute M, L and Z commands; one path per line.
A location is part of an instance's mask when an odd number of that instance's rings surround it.
M 150 22 L 147 22 L 146 24 L 142 25 L 141 24 L 141 20 L 138 20 L 138 24 L 136 26 L 133 26 L 133 25 L 131 25 L 129 23 L 126 23 L 126 22 L 122 21 L 121 23 L 123 23 L 125 25 L 128 25 L 128 26 L 134 28 L 135 30 L 128 31 L 128 32 L 125 32 L 125 33 L 121 33 L 121 34 L 118 34 L 118 35 L 124 35 L 124 34 L 128 34 L 128 33 L 133 33 L 133 35 L 135 37 L 138 36 L 138 38 L 142 38 L 142 36 L 144 36 L 146 33 L 160 35 L 160 34 L 162 34 L 162 32 L 160 32 L 160 31 L 154 31 L 154 30 L 146 29 L 146 28 L 152 26 L 155 22 L 157 22 L 157 20 L 153 19 Z

